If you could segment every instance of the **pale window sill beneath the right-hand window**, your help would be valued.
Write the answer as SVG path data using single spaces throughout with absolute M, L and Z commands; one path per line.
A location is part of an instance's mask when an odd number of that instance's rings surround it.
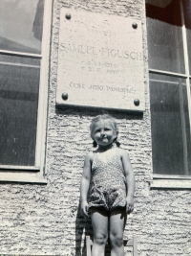
M 154 179 L 150 184 L 151 189 L 191 189 L 190 179 Z

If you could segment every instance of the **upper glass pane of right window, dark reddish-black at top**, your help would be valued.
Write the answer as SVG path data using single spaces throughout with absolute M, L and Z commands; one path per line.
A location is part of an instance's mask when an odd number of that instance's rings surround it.
M 185 73 L 179 0 L 146 5 L 149 68 Z

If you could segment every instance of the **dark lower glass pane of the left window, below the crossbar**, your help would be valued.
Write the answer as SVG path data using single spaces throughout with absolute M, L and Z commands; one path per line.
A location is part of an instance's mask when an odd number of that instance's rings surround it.
M 0 55 L 0 164 L 34 166 L 40 60 Z

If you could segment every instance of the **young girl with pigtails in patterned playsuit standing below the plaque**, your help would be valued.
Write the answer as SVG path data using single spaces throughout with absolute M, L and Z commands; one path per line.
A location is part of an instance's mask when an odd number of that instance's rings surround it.
M 81 178 L 81 209 L 92 217 L 92 256 L 103 256 L 108 239 L 112 256 L 123 256 L 123 231 L 127 213 L 134 210 L 135 177 L 127 151 L 119 148 L 117 122 L 110 115 L 98 115 L 90 126 L 96 151 L 85 157 Z M 90 201 L 87 201 L 90 182 Z

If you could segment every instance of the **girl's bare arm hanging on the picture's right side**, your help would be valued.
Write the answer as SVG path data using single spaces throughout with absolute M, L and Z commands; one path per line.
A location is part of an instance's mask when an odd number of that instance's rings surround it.
M 134 210 L 135 175 L 127 151 L 121 150 L 121 160 L 127 184 L 126 212 L 131 213 Z

